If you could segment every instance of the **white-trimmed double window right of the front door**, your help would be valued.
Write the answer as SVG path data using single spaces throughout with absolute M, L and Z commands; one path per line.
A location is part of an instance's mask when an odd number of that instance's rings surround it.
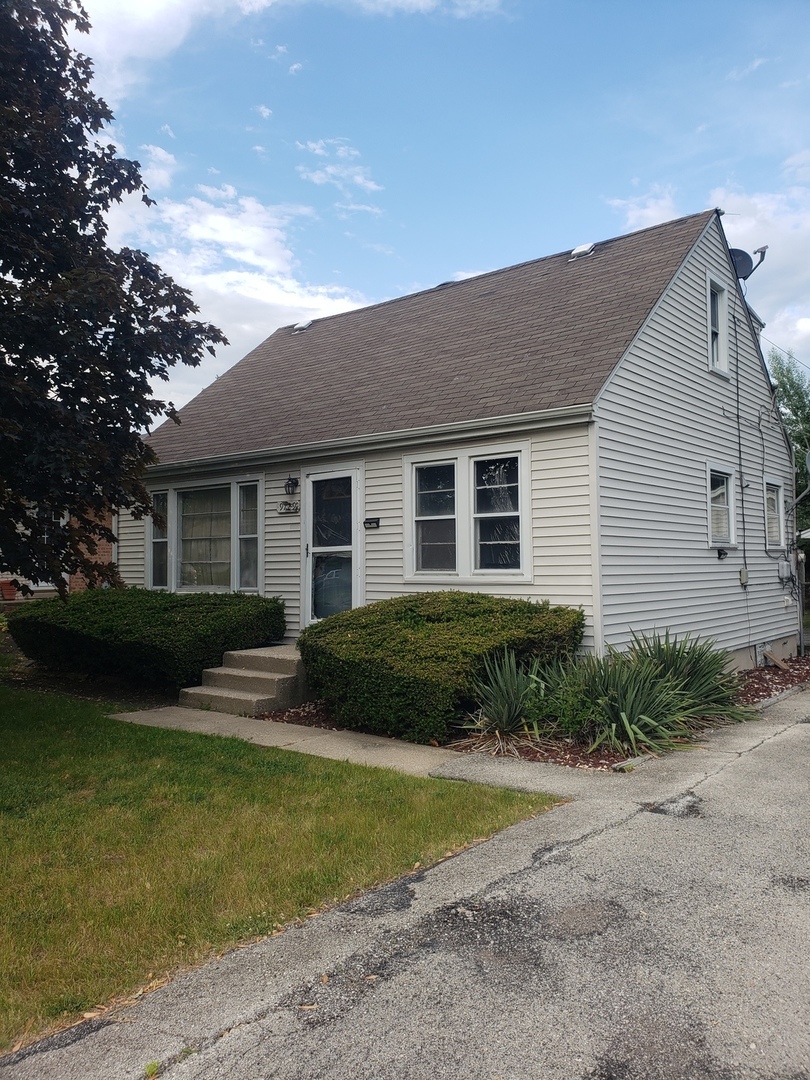
M 413 544 L 406 576 L 474 580 L 528 575 L 528 449 L 486 447 L 406 458 Z

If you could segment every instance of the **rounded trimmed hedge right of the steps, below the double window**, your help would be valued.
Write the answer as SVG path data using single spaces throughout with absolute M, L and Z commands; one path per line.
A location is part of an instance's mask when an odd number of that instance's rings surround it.
M 396 596 L 329 616 L 298 638 L 310 688 L 348 728 L 445 742 L 485 660 L 504 648 L 550 663 L 582 640 L 581 610 L 484 593 Z

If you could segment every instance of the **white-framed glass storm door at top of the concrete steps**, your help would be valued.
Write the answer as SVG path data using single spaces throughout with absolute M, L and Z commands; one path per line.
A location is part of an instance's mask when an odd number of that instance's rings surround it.
M 357 473 L 307 476 L 307 622 L 359 603 Z

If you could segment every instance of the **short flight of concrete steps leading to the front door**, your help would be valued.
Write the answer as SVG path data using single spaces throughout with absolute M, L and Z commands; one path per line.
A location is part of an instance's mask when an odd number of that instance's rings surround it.
M 303 664 L 293 645 L 226 652 L 222 666 L 204 671 L 202 680 L 180 690 L 180 705 L 254 716 L 307 700 Z

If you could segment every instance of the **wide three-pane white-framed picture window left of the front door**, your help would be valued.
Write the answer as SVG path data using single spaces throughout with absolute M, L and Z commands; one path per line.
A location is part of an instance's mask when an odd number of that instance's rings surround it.
M 152 495 L 165 525 L 151 521 L 152 589 L 258 589 L 259 484 L 226 481 Z

